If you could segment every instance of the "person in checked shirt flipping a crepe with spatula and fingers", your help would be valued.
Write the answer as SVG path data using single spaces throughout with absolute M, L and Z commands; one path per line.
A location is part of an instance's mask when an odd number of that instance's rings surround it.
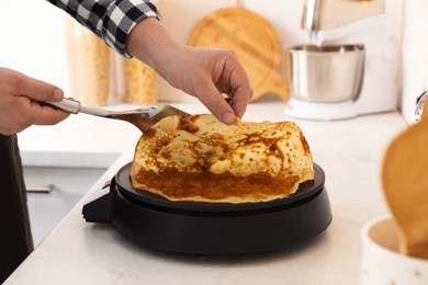
M 159 13 L 149 0 L 49 2 L 119 54 L 142 60 L 171 86 L 196 96 L 225 124 L 233 124 L 244 115 L 252 90 L 235 54 L 173 41 L 159 23 Z M 229 104 L 222 93 L 228 95 Z M 15 134 L 31 125 L 54 125 L 65 119 L 67 113 L 38 104 L 60 101 L 63 96 L 58 87 L 0 68 L 0 283 L 33 249 Z

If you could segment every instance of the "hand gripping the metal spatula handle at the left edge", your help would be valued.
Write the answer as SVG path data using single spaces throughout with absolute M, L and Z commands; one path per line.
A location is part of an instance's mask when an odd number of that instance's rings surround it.
M 64 92 L 52 84 L 0 68 L 0 134 L 16 134 L 31 125 L 54 125 L 68 113 L 41 105 L 40 101 L 60 101 Z

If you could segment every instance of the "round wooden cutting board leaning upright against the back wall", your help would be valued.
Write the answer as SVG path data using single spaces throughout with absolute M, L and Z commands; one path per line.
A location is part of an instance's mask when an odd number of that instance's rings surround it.
M 288 86 L 281 77 L 281 41 L 261 15 L 244 8 L 221 9 L 196 24 L 188 44 L 234 50 L 251 81 L 252 101 L 268 93 L 289 100 Z

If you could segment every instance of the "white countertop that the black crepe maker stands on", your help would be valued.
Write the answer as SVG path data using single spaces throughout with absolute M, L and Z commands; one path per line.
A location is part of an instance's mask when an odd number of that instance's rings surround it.
M 251 104 L 245 119 L 290 118 L 282 103 L 267 102 Z M 333 223 L 320 236 L 282 251 L 202 259 L 147 249 L 110 225 L 86 223 L 83 204 L 132 160 L 131 144 L 5 284 L 358 284 L 360 229 L 388 213 L 380 185 L 382 156 L 406 124 L 398 112 L 297 124 L 326 173 Z

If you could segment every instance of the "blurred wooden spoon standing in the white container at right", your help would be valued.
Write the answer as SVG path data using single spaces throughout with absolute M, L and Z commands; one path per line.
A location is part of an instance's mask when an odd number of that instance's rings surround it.
M 384 195 L 399 227 L 398 250 L 420 259 L 428 259 L 427 114 L 392 141 L 382 170 Z

